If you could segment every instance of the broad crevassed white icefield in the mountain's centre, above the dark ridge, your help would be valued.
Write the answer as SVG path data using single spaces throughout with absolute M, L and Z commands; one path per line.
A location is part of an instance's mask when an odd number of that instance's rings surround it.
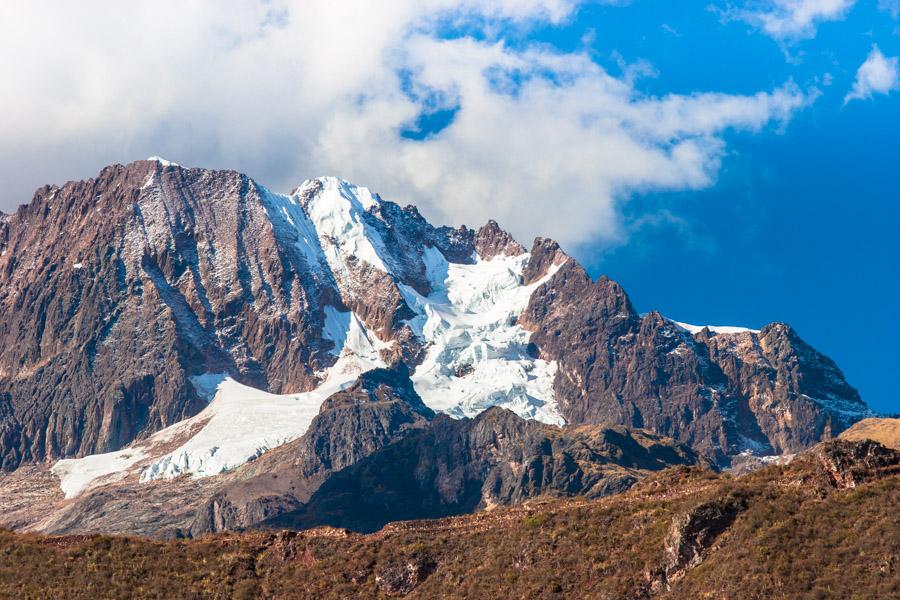
M 531 293 L 556 272 L 522 284 L 528 254 L 448 263 L 439 250 L 426 248 L 432 293 L 400 289 L 417 316 L 407 321 L 426 342 L 424 361 L 412 375 L 416 392 L 436 411 L 474 417 L 492 406 L 544 423 L 562 425 L 553 392 L 555 362 L 528 354 L 531 334 L 516 324 Z

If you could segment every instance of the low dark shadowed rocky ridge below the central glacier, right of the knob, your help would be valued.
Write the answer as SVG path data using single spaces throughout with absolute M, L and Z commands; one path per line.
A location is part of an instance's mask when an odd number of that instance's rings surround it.
M 687 447 L 647 432 L 561 429 L 494 407 L 474 419 L 438 416 L 430 427 L 336 472 L 303 506 L 264 525 L 375 531 L 390 521 L 466 514 L 538 496 L 599 498 L 653 471 L 698 462 Z

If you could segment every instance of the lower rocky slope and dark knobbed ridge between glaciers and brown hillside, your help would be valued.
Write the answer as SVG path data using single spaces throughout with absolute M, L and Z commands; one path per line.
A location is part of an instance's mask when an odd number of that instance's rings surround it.
M 705 464 L 686 446 L 645 431 L 560 428 L 499 407 L 474 419 L 436 417 L 402 363 L 362 373 L 321 403 L 298 439 L 226 472 L 148 477 L 159 464 L 154 446 L 179 443 L 166 436 L 163 430 L 112 455 L 62 460 L 49 473 L 20 468 L 0 479 L 0 522 L 163 538 L 286 523 L 371 531 L 398 518 L 456 515 L 539 495 L 596 498 L 673 465 Z

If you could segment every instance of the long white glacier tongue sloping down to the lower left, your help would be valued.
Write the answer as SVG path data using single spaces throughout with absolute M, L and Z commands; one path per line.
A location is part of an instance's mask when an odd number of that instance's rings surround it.
M 380 351 L 393 343 L 378 339 L 353 313 L 341 313 L 330 307 L 326 312 L 328 319 L 342 325 L 332 328 L 336 338 L 340 334 L 341 344 L 337 362 L 322 374 L 324 381 L 318 388 L 278 395 L 238 383 L 226 373 L 191 377 L 197 393 L 211 398 L 206 408 L 133 447 L 58 461 L 52 470 L 59 476 L 66 497 L 123 479 L 139 468 L 141 482 L 185 474 L 217 475 L 302 436 L 328 396 L 352 384 L 361 373 L 386 366 Z M 175 450 L 154 456 L 155 447 L 171 444 L 172 440 L 195 430 Z

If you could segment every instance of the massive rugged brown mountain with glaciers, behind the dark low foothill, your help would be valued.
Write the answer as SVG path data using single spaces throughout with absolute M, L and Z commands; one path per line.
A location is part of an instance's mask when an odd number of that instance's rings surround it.
M 45 186 L 0 221 L 0 312 L 0 464 L 63 459 L 52 474 L 70 499 L 262 460 L 372 369 L 408 370 L 420 400 L 392 393 L 412 421 L 395 439 L 371 412 L 369 441 L 336 455 L 456 431 L 420 428 L 424 409 L 474 423 L 500 407 L 646 429 L 725 466 L 869 414 L 785 324 L 639 315 L 552 240 L 526 251 L 494 222 L 435 227 L 331 177 L 283 195 L 150 159 Z

